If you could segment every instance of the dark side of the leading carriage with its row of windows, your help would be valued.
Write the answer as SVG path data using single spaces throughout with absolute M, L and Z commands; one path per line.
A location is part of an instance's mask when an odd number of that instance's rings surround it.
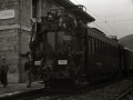
M 120 44 L 94 28 L 88 28 L 88 76 L 105 79 L 120 72 Z

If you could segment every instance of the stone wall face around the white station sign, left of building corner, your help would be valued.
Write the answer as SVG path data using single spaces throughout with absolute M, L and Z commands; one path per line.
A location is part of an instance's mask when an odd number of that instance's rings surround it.
M 6 58 L 9 64 L 9 82 L 18 82 L 18 0 L 0 0 L 0 11 L 14 10 L 14 18 L 0 19 L 0 66 L 1 59 Z

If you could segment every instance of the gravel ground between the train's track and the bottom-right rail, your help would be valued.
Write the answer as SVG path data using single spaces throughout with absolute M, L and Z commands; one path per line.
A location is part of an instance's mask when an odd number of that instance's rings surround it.
M 133 86 L 133 80 L 123 80 L 104 88 L 88 91 L 83 94 L 59 98 L 57 100 L 115 100 L 122 92 Z M 51 100 L 50 97 L 41 97 L 34 100 Z

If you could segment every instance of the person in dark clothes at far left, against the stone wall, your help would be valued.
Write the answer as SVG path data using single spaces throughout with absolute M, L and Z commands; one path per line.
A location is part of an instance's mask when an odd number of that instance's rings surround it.
M 8 80 L 7 80 L 7 73 L 8 73 L 9 67 L 6 63 L 6 59 L 2 59 L 2 66 L 1 66 L 1 83 L 3 84 L 3 88 L 8 86 Z

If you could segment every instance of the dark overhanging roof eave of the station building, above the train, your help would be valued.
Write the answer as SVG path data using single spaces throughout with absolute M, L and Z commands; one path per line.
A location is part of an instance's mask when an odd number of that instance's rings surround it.
M 88 22 L 92 22 L 95 20 L 93 17 L 91 17 L 89 13 L 80 9 L 78 6 L 72 3 L 70 0 L 52 0 L 52 1 L 60 4 L 64 9 L 71 11 L 73 14 L 75 14 L 76 17 L 80 17 L 81 19 Z

